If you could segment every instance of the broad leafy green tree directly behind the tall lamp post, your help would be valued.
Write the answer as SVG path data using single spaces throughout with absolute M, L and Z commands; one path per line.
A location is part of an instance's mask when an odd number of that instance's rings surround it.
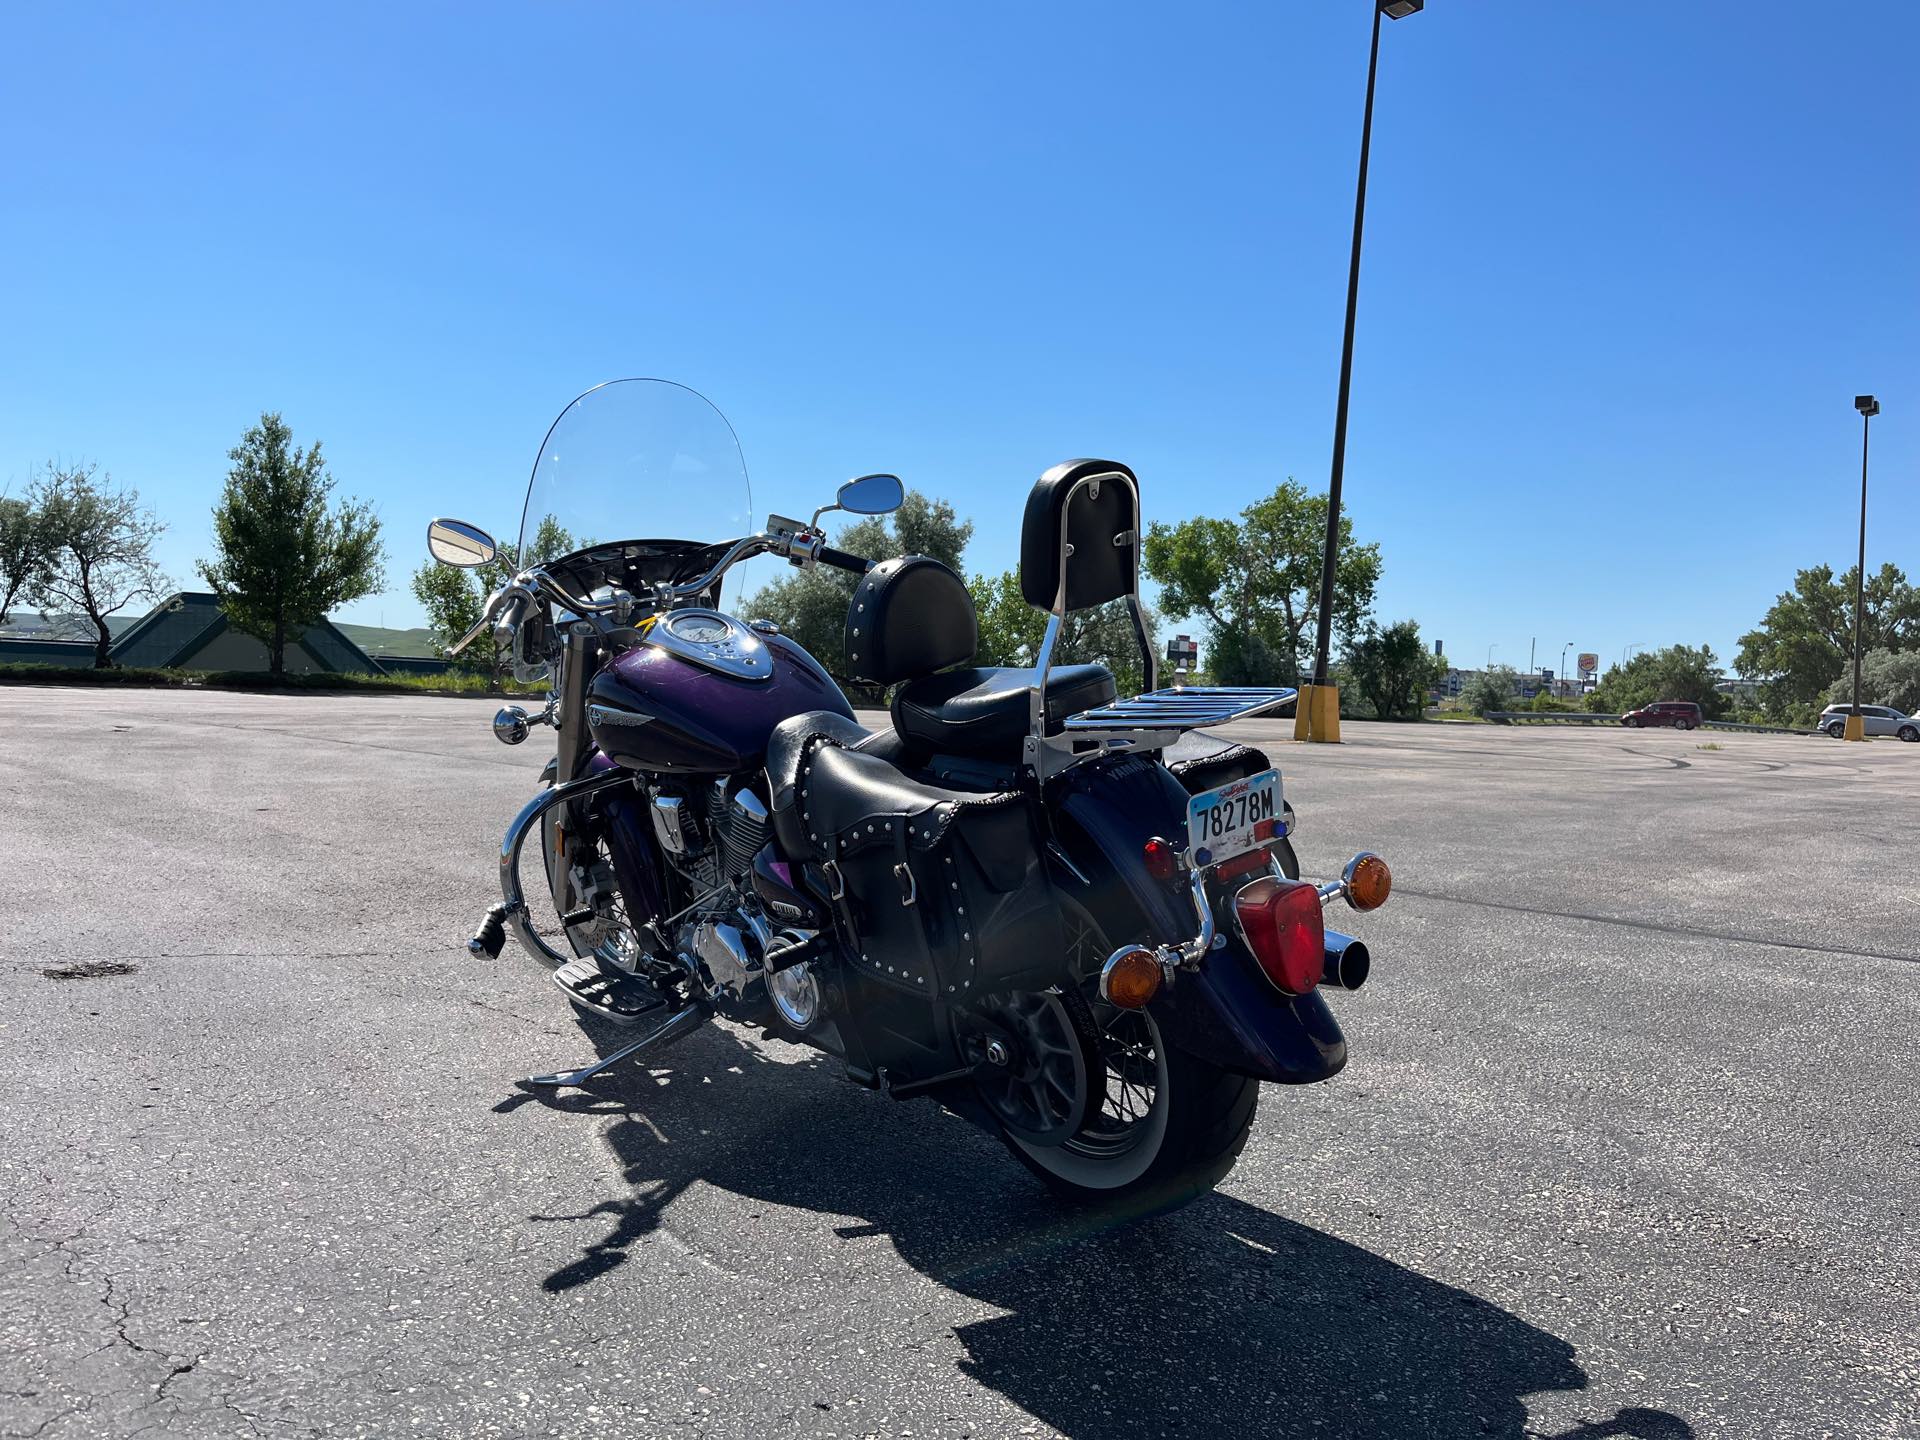
M 1319 607 L 1327 543 L 1327 497 L 1283 480 L 1240 511 L 1240 520 L 1196 516 L 1152 524 L 1146 572 L 1160 584 L 1169 620 L 1208 622 L 1208 664 L 1217 684 L 1300 682 Z M 1380 547 L 1354 543 L 1340 516 L 1334 563 L 1334 634 L 1354 636 L 1373 609 Z

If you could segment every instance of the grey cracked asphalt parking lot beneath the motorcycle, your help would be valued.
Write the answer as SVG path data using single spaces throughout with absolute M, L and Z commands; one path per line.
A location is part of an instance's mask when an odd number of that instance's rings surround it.
M 1920 1434 L 1920 747 L 1277 745 L 1352 1062 L 1102 1231 L 733 1029 L 516 1091 L 492 708 L 0 689 L 0 1432 Z

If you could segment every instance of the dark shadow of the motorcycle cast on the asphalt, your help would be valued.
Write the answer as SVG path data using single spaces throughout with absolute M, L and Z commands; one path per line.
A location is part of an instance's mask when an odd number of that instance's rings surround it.
M 609 1221 L 545 1277 L 549 1292 L 614 1271 L 628 1246 L 676 1225 L 695 1183 L 860 1215 L 835 1227 L 841 1242 L 883 1236 L 922 1275 L 1004 1311 L 956 1327 L 960 1371 L 1068 1436 L 1549 1440 L 1526 1428 L 1523 1398 L 1586 1388 L 1565 1340 L 1346 1240 L 1229 1194 L 1148 1219 L 1062 1212 L 972 1125 L 726 1027 L 651 1071 L 541 1098 L 611 1121 L 634 1187 L 586 1215 L 534 1217 Z M 1553 1440 L 1692 1434 L 1630 1407 Z

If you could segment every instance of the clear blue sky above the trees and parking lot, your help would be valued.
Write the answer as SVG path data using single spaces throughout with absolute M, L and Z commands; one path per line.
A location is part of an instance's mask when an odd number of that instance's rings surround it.
M 263 409 L 511 532 L 578 390 L 662 374 L 760 509 L 893 468 L 1014 563 L 1027 486 L 1150 518 L 1327 482 L 1361 2 L 13 6 L 0 486 L 94 459 L 207 551 Z M 1920 572 L 1920 12 L 1430 0 L 1382 36 L 1348 503 L 1478 664 L 1734 639 Z M 636 524 L 636 530 L 645 530 Z M 194 582 L 198 584 L 198 582 Z

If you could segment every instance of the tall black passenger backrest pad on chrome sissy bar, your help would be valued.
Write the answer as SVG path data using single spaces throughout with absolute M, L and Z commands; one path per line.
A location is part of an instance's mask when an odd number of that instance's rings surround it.
M 1020 526 L 1027 605 L 1054 609 L 1062 540 L 1071 551 L 1068 611 L 1133 595 L 1140 586 L 1140 482 L 1133 470 L 1119 461 L 1066 461 L 1033 484 Z

